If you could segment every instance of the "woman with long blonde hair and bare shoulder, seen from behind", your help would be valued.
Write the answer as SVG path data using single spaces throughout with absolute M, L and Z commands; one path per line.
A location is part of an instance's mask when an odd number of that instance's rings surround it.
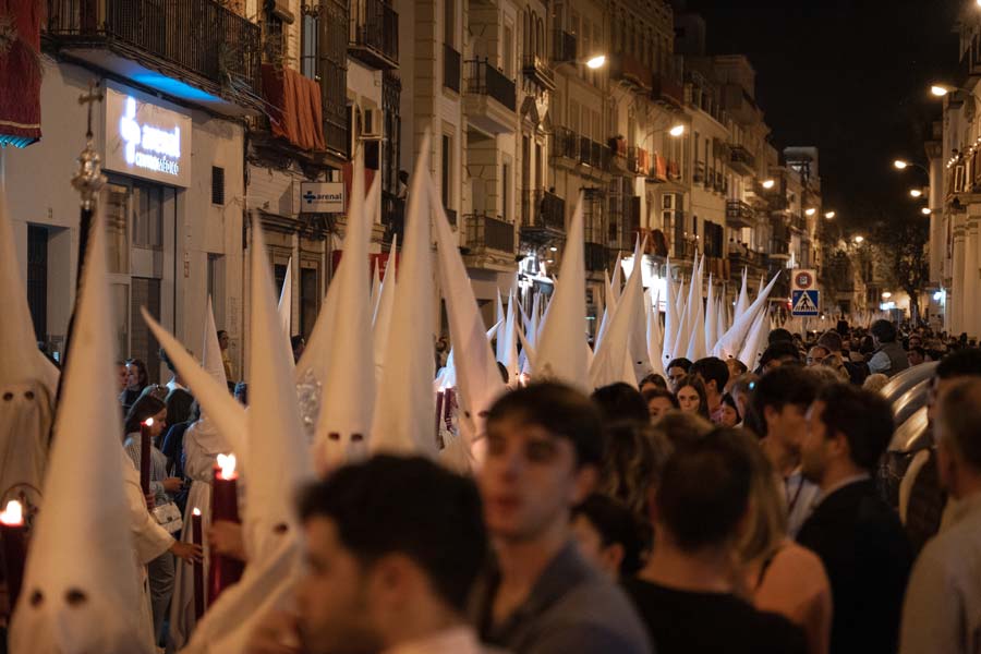
M 787 535 L 782 480 L 759 444 L 746 432 L 731 438 L 753 463 L 749 519 L 739 543 L 741 585 L 760 610 L 780 614 L 800 627 L 810 654 L 827 654 L 832 625 L 831 583 L 821 559 Z

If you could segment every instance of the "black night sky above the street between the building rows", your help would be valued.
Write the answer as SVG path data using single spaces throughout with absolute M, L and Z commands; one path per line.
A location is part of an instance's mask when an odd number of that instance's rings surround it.
M 707 23 L 710 55 L 743 53 L 756 70 L 756 100 L 771 140 L 816 145 L 825 209 L 860 228 L 916 213 L 923 141 L 942 101 L 932 81 L 958 85 L 956 21 L 973 0 L 688 0 Z

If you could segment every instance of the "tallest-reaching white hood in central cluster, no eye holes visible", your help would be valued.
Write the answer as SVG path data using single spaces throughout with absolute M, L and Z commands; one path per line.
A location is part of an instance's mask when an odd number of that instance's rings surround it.
M 436 398 L 433 395 L 436 332 L 433 301 L 431 207 L 425 171 L 429 170 L 428 130 L 415 161 L 405 211 L 398 293 L 385 350 L 385 368 L 368 440 L 373 452 L 436 456 Z M 411 326 L 411 328 L 409 328 Z

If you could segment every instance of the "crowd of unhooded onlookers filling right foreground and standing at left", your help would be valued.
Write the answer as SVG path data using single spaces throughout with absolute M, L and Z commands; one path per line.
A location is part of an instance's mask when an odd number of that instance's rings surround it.
M 667 378 L 591 397 L 519 386 L 486 416 L 472 480 L 377 456 L 306 488 L 295 611 L 270 613 L 249 651 L 974 652 L 981 350 L 936 344 L 885 320 L 776 329 L 755 371 L 677 359 Z M 934 359 L 919 463 L 933 474 L 900 517 L 880 479 L 895 425 L 875 379 Z M 198 409 L 178 374 L 145 380 L 138 361 L 120 368 L 125 449 L 137 469 L 138 425 L 154 417 L 147 501 L 182 513 L 192 482 L 210 479 L 189 464 L 221 448 L 185 441 Z M 208 536 L 245 560 L 238 530 Z M 172 534 L 147 557 L 161 645 L 175 557 L 199 556 Z

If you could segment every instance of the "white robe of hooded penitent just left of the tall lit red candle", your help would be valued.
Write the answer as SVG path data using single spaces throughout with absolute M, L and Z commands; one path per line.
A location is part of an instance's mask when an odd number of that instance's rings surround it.
M 191 512 L 201 510 L 202 546 L 204 547 L 204 577 L 208 578 L 208 528 L 211 524 L 211 480 L 218 455 L 231 451 L 228 443 L 215 427 L 215 423 L 202 419 L 184 433 L 184 476 L 191 480 L 187 506 L 184 510 L 184 529 L 181 541 L 190 543 Z M 239 481 L 241 487 L 241 479 Z M 239 493 L 241 497 L 241 491 Z M 170 645 L 183 647 L 194 632 L 197 619 L 194 616 L 194 569 L 178 566 L 173 581 L 173 597 L 170 601 Z

